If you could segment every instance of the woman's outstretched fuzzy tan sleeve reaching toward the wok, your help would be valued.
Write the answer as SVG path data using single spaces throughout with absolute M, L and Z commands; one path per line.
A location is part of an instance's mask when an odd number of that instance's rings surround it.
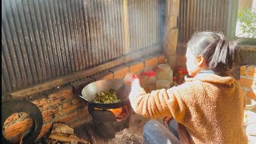
M 182 87 L 179 86 L 180 88 Z M 176 120 L 182 121 L 186 113 L 186 102 L 176 95 L 177 93 L 174 94 L 175 89 L 177 89 L 176 86 L 146 94 L 139 80 L 135 80 L 129 95 L 131 106 L 135 113 L 145 117 L 160 118 L 171 114 Z

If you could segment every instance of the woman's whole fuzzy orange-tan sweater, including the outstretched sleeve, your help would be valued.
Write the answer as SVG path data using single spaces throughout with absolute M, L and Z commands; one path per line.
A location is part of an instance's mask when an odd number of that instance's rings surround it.
M 198 74 L 180 86 L 151 94 L 136 79 L 129 98 L 137 114 L 173 115 L 182 143 L 248 143 L 242 126 L 246 98 L 233 77 Z

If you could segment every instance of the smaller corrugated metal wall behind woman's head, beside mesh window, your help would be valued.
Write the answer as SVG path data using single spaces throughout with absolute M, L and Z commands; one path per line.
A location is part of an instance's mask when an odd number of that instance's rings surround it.
M 187 42 L 196 31 L 226 34 L 230 0 L 180 0 L 178 41 Z

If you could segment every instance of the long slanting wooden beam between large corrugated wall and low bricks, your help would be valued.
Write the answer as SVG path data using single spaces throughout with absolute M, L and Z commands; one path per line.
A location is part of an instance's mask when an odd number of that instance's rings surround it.
M 161 52 L 161 45 L 160 45 L 160 43 L 158 43 L 154 46 L 149 46 L 148 48 L 140 50 L 138 52 L 128 54 L 126 56 L 117 58 L 110 62 L 106 62 L 100 66 L 95 66 L 89 70 L 81 70 L 74 74 L 69 74 L 69 75 L 63 76 L 62 78 L 56 78 L 49 82 L 44 82 L 37 86 L 32 86 L 32 87 L 24 89 L 24 90 L 18 90 L 16 92 L 11 93 L 10 96 L 14 99 L 26 98 L 31 95 L 41 93 L 45 90 L 50 90 L 54 87 L 62 86 L 63 84 L 74 82 L 75 80 L 78 80 L 79 78 L 86 78 L 87 76 L 97 73 L 99 71 L 106 70 L 106 69 L 121 65 L 126 62 L 131 62 L 138 58 L 149 56 L 150 54 L 158 54 L 160 52 Z

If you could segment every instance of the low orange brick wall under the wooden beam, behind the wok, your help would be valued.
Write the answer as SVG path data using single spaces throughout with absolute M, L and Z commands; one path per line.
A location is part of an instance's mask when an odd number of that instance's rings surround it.
M 90 76 L 90 78 L 85 78 L 80 82 L 74 82 L 71 86 L 32 100 L 31 102 L 41 110 L 43 117 L 43 126 L 38 138 L 42 138 L 50 132 L 54 122 L 66 123 L 74 128 L 90 121 L 86 104 L 82 102 L 81 98 L 78 98 L 82 88 L 90 82 L 109 78 L 124 78 L 129 71 L 138 74 L 142 70 L 154 69 L 159 63 L 165 63 L 165 59 L 163 55 L 149 56 L 125 66 Z M 27 134 L 32 126 L 33 121 L 29 114 L 13 114 L 6 120 L 3 131 L 7 139 L 18 142 L 21 134 Z

